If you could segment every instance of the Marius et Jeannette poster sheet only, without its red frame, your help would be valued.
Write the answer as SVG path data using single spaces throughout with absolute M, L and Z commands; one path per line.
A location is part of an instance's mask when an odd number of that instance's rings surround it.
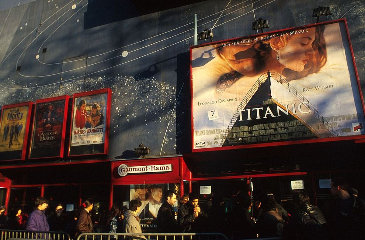
M 107 93 L 74 99 L 71 147 L 105 143 Z

